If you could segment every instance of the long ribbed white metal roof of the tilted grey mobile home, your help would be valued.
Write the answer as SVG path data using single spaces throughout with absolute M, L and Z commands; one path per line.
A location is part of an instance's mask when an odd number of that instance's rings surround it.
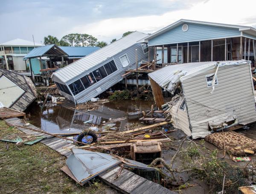
M 103 48 L 92 52 L 84 58 L 81 58 L 78 61 L 75 61 L 74 63 L 54 72 L 52 75 L 56 76 L 63 82 L 69 81 L 87 69 L 94 67 L 95 65 L 105 61 L 108 58 L 111 58 L 113 55 L 116 55 L 122 50 L 134 45 L 137 43 L 137 41 L 145 38 L 146 36 L 147 34 L 135 31 L 124 38 L 104 46 Z

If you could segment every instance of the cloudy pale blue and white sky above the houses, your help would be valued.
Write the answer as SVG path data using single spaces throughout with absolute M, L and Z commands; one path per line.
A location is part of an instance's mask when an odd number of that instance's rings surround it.
M 0 43 L 70 33 L 110 43 L 123 32 L 152 33 L 179 19 L 256 27 L 256 0 L 1 0 L 0 7 Z

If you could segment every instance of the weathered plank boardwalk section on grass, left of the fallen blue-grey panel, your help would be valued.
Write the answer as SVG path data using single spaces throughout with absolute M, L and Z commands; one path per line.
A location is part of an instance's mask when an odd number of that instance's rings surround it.
M 25 124 L 25 122 L 23 121 L 23 119 L 19 119 L 17 117 L 15 118 L 10 118 L 10 119 L 4 119 L 6 121 L 6 123 L 10 126 L 15 126 L 15 125 L 20 125 L 23 126 Z M 41 135 L 46 137 L 46 139 L 43 139 L 41 142 L 44 145 L 47 145 L 49 148 L 52 148 L 55 151 L 58 151 L 59 153 L 61 153 L 64 156 L 69 156 L 72 152 L 69 148 L 75 148 L 76 146 L 68 140 L 65 139 L 61 139 L 58 137 L 52 137 L 50 135 L 44 134 L 44 133 L 40 133 L 40 132 L 36 132 L 33 130 L 29 130 L 29 129 L 25 129 L 22 127 L 17 127 L 15 126 L 17 129 L 23 131 L 26 134 L 31 134 L 31 135 Z M 41 130 L 38 127 L 35 127 L 34 125 L 29 125 L 26 126 L 27 128 L 32 128 L 32 129 L 36 129 L 36 130 Z

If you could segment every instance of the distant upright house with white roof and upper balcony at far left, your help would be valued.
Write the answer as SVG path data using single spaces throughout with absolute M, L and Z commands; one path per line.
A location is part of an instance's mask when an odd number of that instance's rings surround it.
M 0 68 L 26 71 L 26 61 L 23 61 L 23 57 L 38 46 L 42 44 L 20 38 L 0 43 Z

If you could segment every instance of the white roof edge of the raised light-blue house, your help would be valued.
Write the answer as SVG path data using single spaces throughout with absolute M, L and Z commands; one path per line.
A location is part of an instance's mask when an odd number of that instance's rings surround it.
M 198 23 L 198 24 L 211 25 L 211 26 L 237 28 L 237 29 L 239 29 L 239 31 L 244 31 L 250 35 L 256 35 L 256 29 L 253 27 L 250 27 L 250 26 L 239 26 L 239 25 L 224 24 L 224 23 L 214 23 L 214 22 L 204 22 L 204 21 L 197 21 L 197 20 L 180 19 L 180 20 L 177 20 L 175 23 L 172 23 L 169 26 L 166 26 L 166 27 L 158 30 L 157 32 L 152 33 L 151 35 L 148 35 L 146 38 L 141 39 L 138 42 L 140 42 L 140 43 L 147 42 L 149 39 L 154 38 L 157 35 L 160 35 L 166 31 L 169 31 L 170 29 L 173 29 L 183 23 Z

